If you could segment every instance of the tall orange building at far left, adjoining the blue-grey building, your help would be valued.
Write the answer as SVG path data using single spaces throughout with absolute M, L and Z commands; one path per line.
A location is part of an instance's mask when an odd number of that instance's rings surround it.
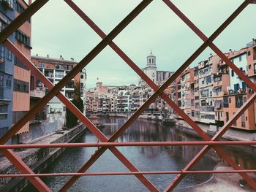
M 20 15 L 26 8 L 23 0 L 15 1 L 15 18 Z M 18 47 L 27 58 L 31 59 L 31 20 L 27 20 L 17 31 L 15 31 L 15 46 Z M 12 125 L 17 123 L 26 112 L 29 111 L 29 82 L 31 72 L 24 64 L 15 56 L 14 66 L 14 86 L 13 86 L 13 106 L 12 106 Z M 12 143 L 20 142 L 20 134 L 29 131 L 29 123 L 18 131 L 12 138 Z

